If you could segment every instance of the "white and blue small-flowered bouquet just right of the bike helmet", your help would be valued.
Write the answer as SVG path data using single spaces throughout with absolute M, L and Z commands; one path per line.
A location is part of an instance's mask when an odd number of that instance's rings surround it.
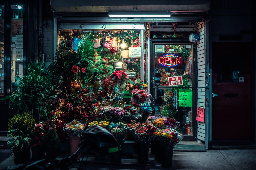
M 118 122 L 118 123 L 110 123 L 109 124 L 109 132 L 114 135 L 116 140 L 118 141 L 118 150 L 123 149 L 123 143 L 129 131 L 129 126 L 126 123 Z

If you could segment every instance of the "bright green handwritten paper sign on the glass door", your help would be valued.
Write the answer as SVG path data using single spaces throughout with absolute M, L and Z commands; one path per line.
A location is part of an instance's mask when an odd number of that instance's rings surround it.
M 179 106 L 192 107 L 192 90 L 179 90 Z

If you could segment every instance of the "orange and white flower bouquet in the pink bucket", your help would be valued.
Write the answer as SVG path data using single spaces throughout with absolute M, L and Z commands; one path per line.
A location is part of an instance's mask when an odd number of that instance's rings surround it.
M 86 124 L 81 123 L 74 119 L 72 122 L 66 124 L 63 130 L 68 133 L 69 136 L 81 136 Z

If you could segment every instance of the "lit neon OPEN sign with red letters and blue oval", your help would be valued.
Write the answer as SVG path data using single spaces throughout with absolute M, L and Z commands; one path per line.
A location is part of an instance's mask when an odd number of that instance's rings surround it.
M 182 67 L 182 53 L 157 53 L 157 67 Z

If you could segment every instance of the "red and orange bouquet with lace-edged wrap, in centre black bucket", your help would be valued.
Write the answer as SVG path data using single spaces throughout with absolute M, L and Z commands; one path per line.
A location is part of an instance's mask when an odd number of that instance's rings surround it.
M 150 143 L 155 137 L 155 126 L 151 122 L 136 123 L 135 120 L 131 121 L 130 132 L 138 143 Z

